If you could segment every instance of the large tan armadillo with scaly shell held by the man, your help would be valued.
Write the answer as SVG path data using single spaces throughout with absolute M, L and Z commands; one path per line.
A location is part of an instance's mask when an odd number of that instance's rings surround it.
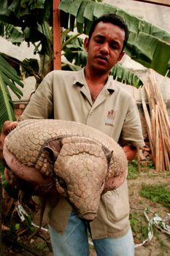
M 128 172 L 115 140 L 74 121 L 20 121 L 5 138 L 3 154 L 16 176 L 66 197 L 77 215 L 90 221 L 102 193 L 123 184 Z

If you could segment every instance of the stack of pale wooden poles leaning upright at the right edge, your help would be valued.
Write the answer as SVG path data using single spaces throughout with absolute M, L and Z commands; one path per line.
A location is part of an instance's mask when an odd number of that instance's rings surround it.
M 144 90 L 147 94 L 148 107 L 144 100 Z M 156 171 L 170 171 L 170 121 L 166 105 L 163 102 L 161 90 L 150 70 L 150 82 L 144 84 L 142 106 L 147 125 L 147 134 L 152 151 L 152 161 Z

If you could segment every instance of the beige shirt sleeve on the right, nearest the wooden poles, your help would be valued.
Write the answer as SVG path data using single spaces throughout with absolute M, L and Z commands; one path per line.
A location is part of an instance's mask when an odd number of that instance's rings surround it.
M 139 116 L 139 110 L 134 99 L 132 105 L 129 106 L 127 114 L 125 116 L 125 121 L 123 123 L 123 129 L 120 134 L 119 143 L 121 146 L 144 146 L 142 124 Z

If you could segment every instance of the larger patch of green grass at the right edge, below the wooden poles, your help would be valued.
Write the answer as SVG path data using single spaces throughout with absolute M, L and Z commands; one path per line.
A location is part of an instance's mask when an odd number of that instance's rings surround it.
M 143 184 L 140 195 L 170 208 L 170 189 L 168 185 L 169 184 Z

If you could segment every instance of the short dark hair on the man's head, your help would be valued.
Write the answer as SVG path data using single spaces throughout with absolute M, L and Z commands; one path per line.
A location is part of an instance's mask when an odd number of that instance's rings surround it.
M 128 34 L 129 34 L 128 26 L 125 24 L 124 20 L 120 16 L 115 15 L 113 13 L 102 15 L 101 17 L 99 17 L 93 21 L 93 24 L 92 24 L 89 34 L 88 34 L 89 40 L 93 34 L 93 31 L 96 28 L 96 25 L 101 21 L 104 23 L 112 23 L 113 25 L 119 26 L 121 29 L 123 29 L 125 31 L 125 40 L 123 42 L 123 48 L 125 48 L 125 45 L 128 41 Z

